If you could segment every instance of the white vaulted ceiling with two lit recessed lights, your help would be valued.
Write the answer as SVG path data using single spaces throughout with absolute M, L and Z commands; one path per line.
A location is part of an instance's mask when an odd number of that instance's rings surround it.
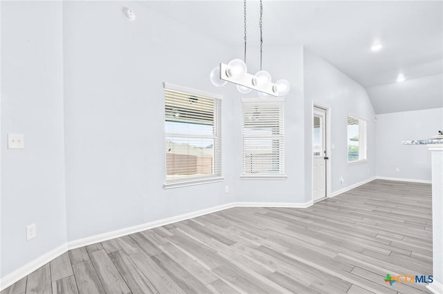
M 243 1 L 143 5 L 243 46 Z M 367 88 L 376 113 L 443 107 L 443 1 L 264 0 L 263 8 L 264 60 L 266 46 L 303 45 Z M 258 1 L 247 1 L 247 19 L 248 50 L 254 50 Z M 375 41 L 383 44 L 379 52 L 370 50 Z M 396 82 L 399 72 L 406 81 Z

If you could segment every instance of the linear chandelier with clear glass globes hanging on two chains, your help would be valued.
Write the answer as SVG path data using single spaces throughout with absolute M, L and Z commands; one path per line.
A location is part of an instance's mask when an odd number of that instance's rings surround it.
M 263 4 L 260 0 L 260 71 L 251 75 L 246 66 L 246 0 L 244 3 L 244 60 L 233 59 L 228 64 L 220 63 L 210 72 L 210 81 L 214 86 L 221 87 L 229 81 L 237 84 L 237 90 L 242 94 L 247 94 L 251 90 L 256 90 L 262 98 L 278 97 L 287 95 L 291 85 L 287 79 L 279 79 L 275 83 L 271 82 L 271 75 L 266 70 L 262 70 L 263 54 Z

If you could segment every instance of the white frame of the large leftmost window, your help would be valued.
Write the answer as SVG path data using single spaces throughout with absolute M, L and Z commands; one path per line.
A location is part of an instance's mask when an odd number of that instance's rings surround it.
M 165 141 L 163 141 L 164 146 L 167 145 L 166 138 L 168 137 L 183 137 L 183 138 L 213 138 L 214 139 L 214 150 L 213 150 L 213 169 L 215 171 L 215 174 L 213 175 L 197 175 L 194 177 L 177 177 L 175 179 L 168 179 L 167 178 L 167 170 L 168 170 L 168 162 L 166 159 L 166 153 L 165 153 L 165 182 L 163 184 L 163 188 L 178 188 L 183 186 L 193 186 L 193 185 L 199 185 L 199 184 L 208 184 L 208 183 L 214 183 L 214 182 L 221 182 L 224 180 L 224 177 L 221 175 L 221 100 L 223 98 L 222 95 L 214 94 L 211 92 L 205 92 L 202 90 L 187 88 L 175 84 L 170 83 L 163 83 L 164 88 L 164 96 L 163 99 L 165 101 L 165 104 L 163 106 L 163 127 L 165 127 L 165 123 L 167 121 L 167 115 L 166 115 L 166 90 L 170 91 L 177 91 L 185 93 L 186 95 L 196 95 L 201 96 L 209 99 L 214 100 L 214 110 L 213 110 L 213 135 L 196 135 L 196 134 L 187 134 L 183 135 L 180 133 L 167 133 L 166 128 L 163 130 L 163 134 L 165 136 Z

